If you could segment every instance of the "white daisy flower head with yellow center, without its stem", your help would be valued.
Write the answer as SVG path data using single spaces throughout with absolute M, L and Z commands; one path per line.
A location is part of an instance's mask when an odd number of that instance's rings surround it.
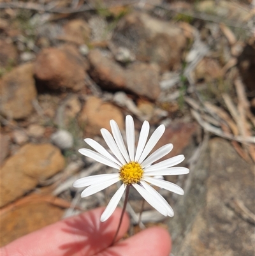
M 162 215 L 173 216 L 173 209 L 171 206 L 166 202 L 162 195 L 150 186 L 150 184 L 183 195 L 184 190 L 182 190 L 182 188 L 169 181 L 162 180 L 161 176 L 187 174 L 189 173 L 189 169 L 185 167 L 173 167 L 184 160 L 184 155 L 182 154 L 155 163 L 154 165 L 152 164 L 160 158 L 163 158 L 163 156 L 170 153 L 171 149 L 173 149 L 172 144 L 166 144 L 148 156 L 163 135 L 165 130 L 164 125 L 161 124 L 161 126 L 152 133 L 147 142 L 150 126 L 147 121 L 144 121 L 136 151 L 135 126 L 131 116 L 126 116 L 126 141 L 128 150 L 124 145 L 117 123 L 114 120 L 111 120 L 110 126 L 112 128 L 112 134 L 106 129 L 101 129 L 101 133 L 113 155 L 108 153 L 103 146 L 92 139 L 85 139 L 85 142 L 87 142 L 87 144 L 89 144 L 95 151 L 92 151 L 91 149 L 80 149 L 79 152 L 97 162 L 116 169 L 116 171 L 112 174 L 99 174 L 83 177 L 75 181 L 73 186 L 75 188 L 87 186 L 81 196 L 88 197 L 89 195 L 104 190 L 118 181 L 122 182 L 122 185 L 113 195 L 108 206 L 101 215 L 101 222 L 105 222 L 112 215 L 127 186 L 133 186 L 142 197 Z

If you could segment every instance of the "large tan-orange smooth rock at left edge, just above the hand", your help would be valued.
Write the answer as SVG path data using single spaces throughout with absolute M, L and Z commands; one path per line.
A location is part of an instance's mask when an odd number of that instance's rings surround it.
M 1 206 L 32 190 L 39 180 L 64 168 L 64 157 L 52 144 L 26 144 L 2 167 Z

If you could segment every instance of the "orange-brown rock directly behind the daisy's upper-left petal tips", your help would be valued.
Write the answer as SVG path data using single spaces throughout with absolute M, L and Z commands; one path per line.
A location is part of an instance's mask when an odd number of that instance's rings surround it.
M 101 135 L 100 129 L 110 128 L 110 120 L 114 119 L 120 129 L 124 128 L 121 111 L 111 103 L 103 102 L 101 99 L 91 97 L 87 100 L 79 116 L 80 126 L 85 128 L 85 133 L 90 136 Z

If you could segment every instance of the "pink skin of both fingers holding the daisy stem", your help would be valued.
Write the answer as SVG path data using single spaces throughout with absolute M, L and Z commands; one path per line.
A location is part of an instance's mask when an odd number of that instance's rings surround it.
M 171 238 L 160 227 L 152 227 L 110 246 L 121 209 L 100 222 L 104 208 L 87 211 L 20 237 L 0 250 L 2 256 L 168 256 Z M 128 231 L 129 218 L 124 215 L 117 240 Z

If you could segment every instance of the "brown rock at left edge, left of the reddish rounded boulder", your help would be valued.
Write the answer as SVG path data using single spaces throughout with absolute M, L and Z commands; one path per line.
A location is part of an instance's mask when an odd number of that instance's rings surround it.
M 33 64 L 23 64 L 11 70 L 1 79 L 1 114 L 8 118 L 22 119 L 31 114 L 36 98 Z

